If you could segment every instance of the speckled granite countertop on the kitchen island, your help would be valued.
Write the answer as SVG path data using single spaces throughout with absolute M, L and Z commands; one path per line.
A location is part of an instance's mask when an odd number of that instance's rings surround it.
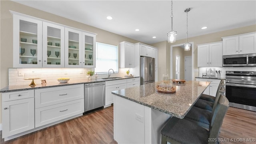
M 162 94 L 156 92 L 155 82 L 113 91 L 112 94 L 126 98 L 138 104 L 148 106 L 177 118 L 184 118 L 198 100 L 207 86 L 200 86 L 198 81 L 176 84 L 176 93 Z

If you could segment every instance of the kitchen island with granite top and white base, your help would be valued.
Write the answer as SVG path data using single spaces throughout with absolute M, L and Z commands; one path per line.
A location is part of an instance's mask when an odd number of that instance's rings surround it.
M 113 91 L 114 139 L 118 143 L 160 143 L 168 118 L 184 118 L 207 86 L 176 84 L 176 93 L 156 92 L 155 83 Z

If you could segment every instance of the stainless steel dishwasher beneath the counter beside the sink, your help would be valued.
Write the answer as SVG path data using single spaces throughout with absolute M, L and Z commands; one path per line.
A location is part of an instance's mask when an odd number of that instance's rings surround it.
M 84 84 L 84 112 L 103 108 L 105 105 L 105 82 Z

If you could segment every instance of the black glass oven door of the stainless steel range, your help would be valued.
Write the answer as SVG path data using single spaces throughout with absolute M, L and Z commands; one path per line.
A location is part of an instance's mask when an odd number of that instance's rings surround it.
M 256 106 L 256 85 L 226 83 L 229 102 Z

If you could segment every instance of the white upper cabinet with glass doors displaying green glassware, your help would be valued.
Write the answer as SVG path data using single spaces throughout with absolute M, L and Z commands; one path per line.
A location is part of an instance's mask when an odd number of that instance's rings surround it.
M 13 14 L 14 68 L 95 68 L 96 34 Z

